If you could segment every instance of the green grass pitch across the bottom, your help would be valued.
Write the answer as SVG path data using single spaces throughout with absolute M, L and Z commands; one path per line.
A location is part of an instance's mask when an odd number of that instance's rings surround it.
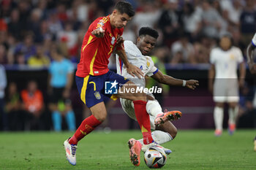
M 127 140 L 140 139 L 140 131 L 94 131 L 78 144 L 77 165 L 71 166 L 62 146 L 72 133 L 0 133 L 0 169 L 148 169 L 129 161 Z M 173 151 L 162 169 L 256 169 L 252 139 L 255 130 L 227 131 L 220 137 L 213 130 L 178 131 L 164 147 Z M 143 153 L 140 154 L 143 158 Z

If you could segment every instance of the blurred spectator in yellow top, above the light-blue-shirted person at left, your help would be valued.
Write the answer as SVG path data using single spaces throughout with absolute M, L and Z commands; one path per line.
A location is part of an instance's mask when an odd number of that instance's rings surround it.
M 42 46 L 37 45 L 37 54 L 29 58 L 29 66 L 42 67 L 50 64 L 50 59 L 44 54 Z

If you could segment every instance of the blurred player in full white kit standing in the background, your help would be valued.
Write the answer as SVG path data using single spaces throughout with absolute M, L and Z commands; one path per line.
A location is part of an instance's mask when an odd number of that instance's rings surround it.
M 236 130 L 236 117 L 238 115 L 239 86 L 244 85 L 246 74 L 244 58 L 241 50 L 232 45 L 230 34 L 222 34 L 219 39 L 219 47 L 215 47 L 210 53 L 211 68 L 208 72 L 209 90 L 214 96 L 214 123 L 215 136 L 222 135 L 222 123 L 224 106 L 227 102 L 228 132 L 230 135 Z M 237 69 L 239 65 L 239 80 Z

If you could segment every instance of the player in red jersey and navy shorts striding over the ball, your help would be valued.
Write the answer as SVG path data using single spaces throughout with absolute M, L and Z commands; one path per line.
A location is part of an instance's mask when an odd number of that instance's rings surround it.
M 132 100 L 135 106 L 135 115 L 143 134 L 143 143 L 152 144 L 151 125 L 149 115 L 146 112 L 147 98 L 145 93 L 119 93 L 125 89 L 136 89 L 136 85 L 119 74 L 108 69 L 108 58 L 115 52 L 127 67 L 127 72 L 132 76 L 140 78 L 143 72 L 127 60 L 124 52 L 121 35 L 124 26 L 135 15 L 134 9 L 127 1 L 118 1 L 112 14 L 97 18 L 91 23 L 83 39 L 81 47 L 80 63 L 76 72 L 75 81 L 78 86 L 80 98 L 91 110 L 91 116 L 80 124 L 75 134 L 64 142 L 67 161 L 76 164 L 76 148 L 78 141 L 89 134 L 105 120 L 107 111 L 104 98 L 127 98 Z M 107 82 L 118 88 L 117 93 L 110 95 L 106 93 Z M 140 165 L 140 142 L 129 143 L 129 154 L 135 166 Z

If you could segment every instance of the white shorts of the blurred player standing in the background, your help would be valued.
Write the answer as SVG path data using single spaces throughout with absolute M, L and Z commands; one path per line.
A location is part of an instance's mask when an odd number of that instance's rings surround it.
M 214 102 L 238 102 L 239 88 L 237 79 L 215 79 Z

